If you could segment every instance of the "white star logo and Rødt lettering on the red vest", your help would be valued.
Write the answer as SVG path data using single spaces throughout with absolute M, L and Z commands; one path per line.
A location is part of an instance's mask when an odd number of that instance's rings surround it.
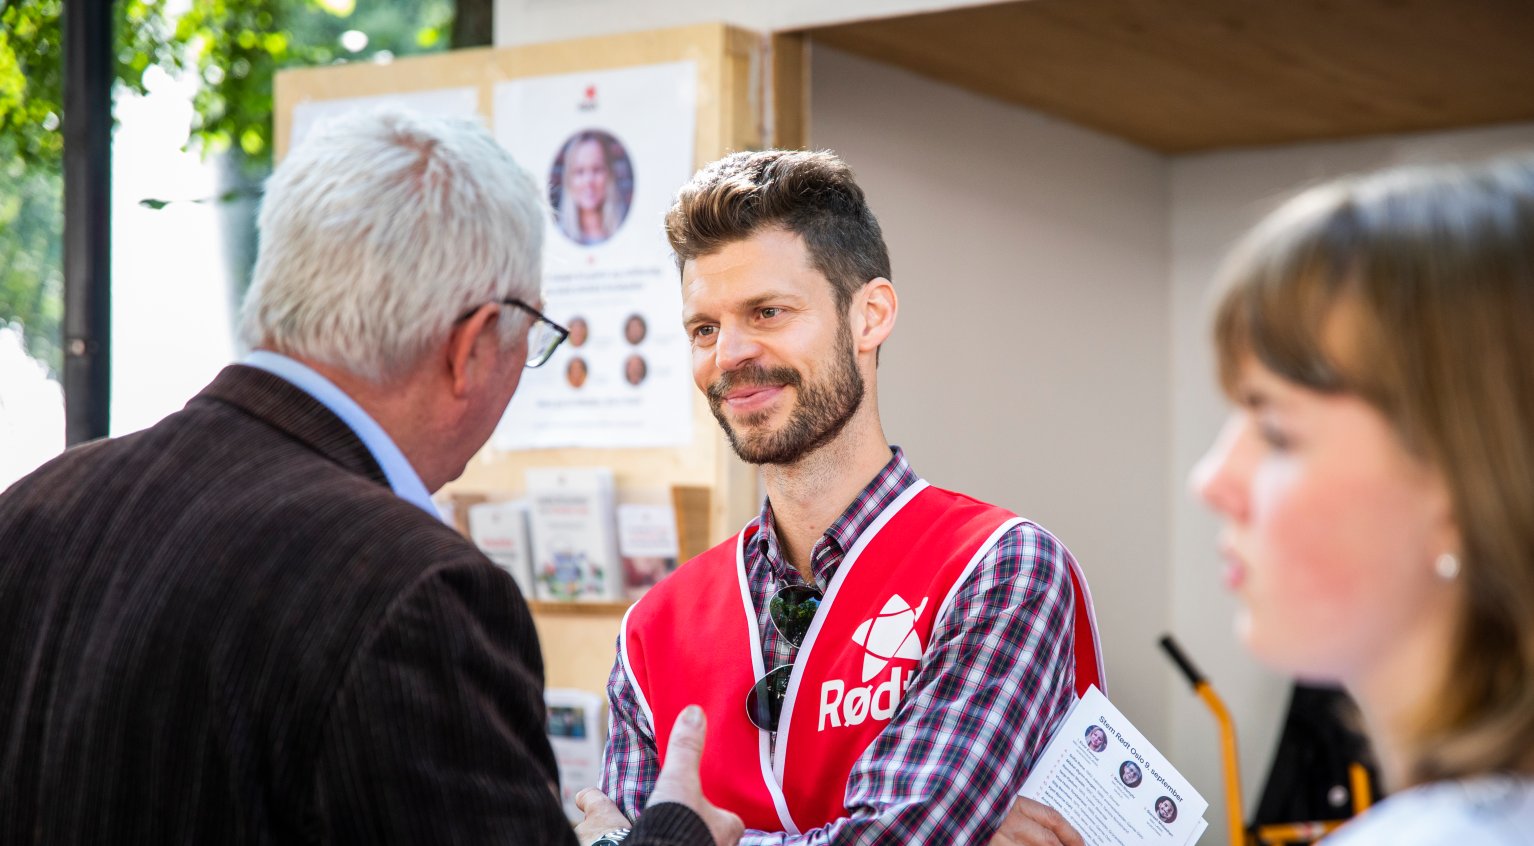
M 920 605 L 911 608 L 911 603 L 900 594 L 894 594 L 884 603 L 884 610 L 858 623 L 853 642 L 864 648 L 864 686 L 848 691 L 847 683 L 841 679 L 831 679 L 821 685 L 821 715 L 816 731 L 825 731 L 827 725 L 831 728 L 856 726 L 870 715 L 876 720 L 888 720 L 894 715 L 894 705 L 900 702 L 900 694 L 911 686 L 911 674 L 902 673 L 896 666 L 890 673 L 890 679 L 877 688 L 868 680 L 884 673 L 894 659 L 920 660 L 925 649 L 922 637 L 916 633 L 916 620 L 927 610 L 927 599 L 923 596 Z

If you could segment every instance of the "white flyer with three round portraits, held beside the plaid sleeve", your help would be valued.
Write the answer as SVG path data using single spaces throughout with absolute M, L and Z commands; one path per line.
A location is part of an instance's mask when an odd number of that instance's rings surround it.
M 1209 803 L 1095 686 L 1077 700 L 1019 795 L 1066 818 L 1088 846 L 1197 843 Z

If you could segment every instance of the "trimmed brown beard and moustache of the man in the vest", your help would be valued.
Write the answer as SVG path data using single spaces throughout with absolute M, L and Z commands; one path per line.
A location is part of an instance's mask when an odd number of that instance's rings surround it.
M 724 415 L 724 398 L 741 385 L 792 387 L 798 402 L 788 415 L 788 422 L 778 431 L 736 431 Z M 853 352 L 851 326 L 842 321 L 836 333 L 836 349 L 831 352 L 831 370 L 825 379 L 805 384 L 792 367 L 742 367 L 719 376 L 709 385 L 709 408 L 719 421 L 730 447 L 741 461 L 749 464 L 793 464 L 811 451 L 831 442 L 847 421 L 853 418 L 864 401 L 862 373 Z M 772 411 L 749 415 L 742 428 L 767 421 Z

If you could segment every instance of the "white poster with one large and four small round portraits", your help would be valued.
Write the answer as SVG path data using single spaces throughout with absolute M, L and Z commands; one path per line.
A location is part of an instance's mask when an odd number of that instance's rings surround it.
M 495 84 L 494 131 L 546 186 L 545 312 L 571 330 L 523 375 L 499 450 L 692 441 L 681 287 L 663 218 L 692 177 L 698 69 L 673 61 Z

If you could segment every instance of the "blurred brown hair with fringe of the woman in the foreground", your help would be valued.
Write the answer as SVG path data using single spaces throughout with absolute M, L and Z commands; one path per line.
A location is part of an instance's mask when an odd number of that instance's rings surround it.
M 1312 189 L 1221 275 L 1227 392 L 1250 358 L 1358 396 L 1448 487 L 1465 599 L 1408 778 L 1534 772 L 1534 158 Z

